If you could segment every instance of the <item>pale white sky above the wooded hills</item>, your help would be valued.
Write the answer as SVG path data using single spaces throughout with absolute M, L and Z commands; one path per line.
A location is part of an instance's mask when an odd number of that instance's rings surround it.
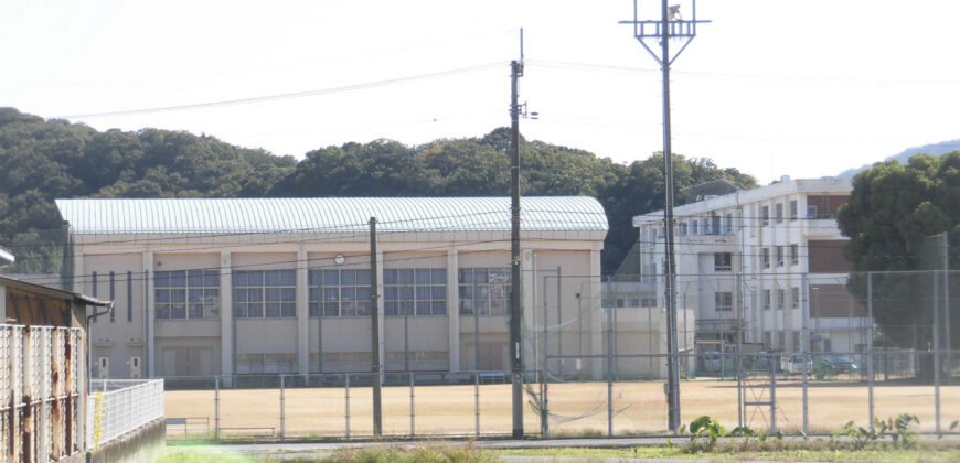
M 691 0 L 670 3 L 691 18 Z M 638 4 L 659 15 L 659 1 Z M 540 115 L 522 134 L 630 163 L 663 142 L 659 64 L 619 24 L 633 8 L 4 0 L 0 106 L 298 159 L 350 141 L 481 137 L 510 125 L 522 28 L 520 98 Z M 674 153 L 766 184 L 960 138 L 960 2 L 701 0 L 696 14 L 712 22 L 671 66 Z

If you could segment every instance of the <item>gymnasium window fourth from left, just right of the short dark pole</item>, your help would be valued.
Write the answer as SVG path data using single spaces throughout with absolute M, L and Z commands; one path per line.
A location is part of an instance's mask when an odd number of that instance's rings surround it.
M 386 316 L 446 315 L 447 270 L 384 270 L 383 313 Z

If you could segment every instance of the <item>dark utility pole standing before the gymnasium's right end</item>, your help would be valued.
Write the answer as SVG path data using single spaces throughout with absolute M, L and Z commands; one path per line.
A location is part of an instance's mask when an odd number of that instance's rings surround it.
M 516 79 L 523 76 L 523 30 L 520 62 L 510 62 L 510 363 L 512 373 L 513 439 L 523 439 L 523 358 L 520 346 L 520 105 Z

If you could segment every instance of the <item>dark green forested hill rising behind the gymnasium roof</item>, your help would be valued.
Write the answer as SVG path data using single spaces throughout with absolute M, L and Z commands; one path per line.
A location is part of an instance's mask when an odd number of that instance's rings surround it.
M 60 226 L 58 197 L 505 196 L 509 130 L 408 147 L 345 143 L 277 157 L 186 132 L 108 130 L 0 108 L 0 245 L 25 249 Z M 662 208 L 662 157 L 632 164 L 541 141 L 521 143 L 525 195 L 589 195 L 607 211 L 604 272 L 636 239 L 634 215 Z M 676 189 L 756 180 L 706 159 L 674 161 Z

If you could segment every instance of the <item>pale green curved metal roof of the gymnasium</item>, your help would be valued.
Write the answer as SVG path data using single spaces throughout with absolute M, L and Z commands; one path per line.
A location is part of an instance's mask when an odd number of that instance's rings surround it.
M 74 234 L 509 232 L 509 197 L 56 200 Z M 606 232 L 588 196 L 521 200 L 524 232 Z

